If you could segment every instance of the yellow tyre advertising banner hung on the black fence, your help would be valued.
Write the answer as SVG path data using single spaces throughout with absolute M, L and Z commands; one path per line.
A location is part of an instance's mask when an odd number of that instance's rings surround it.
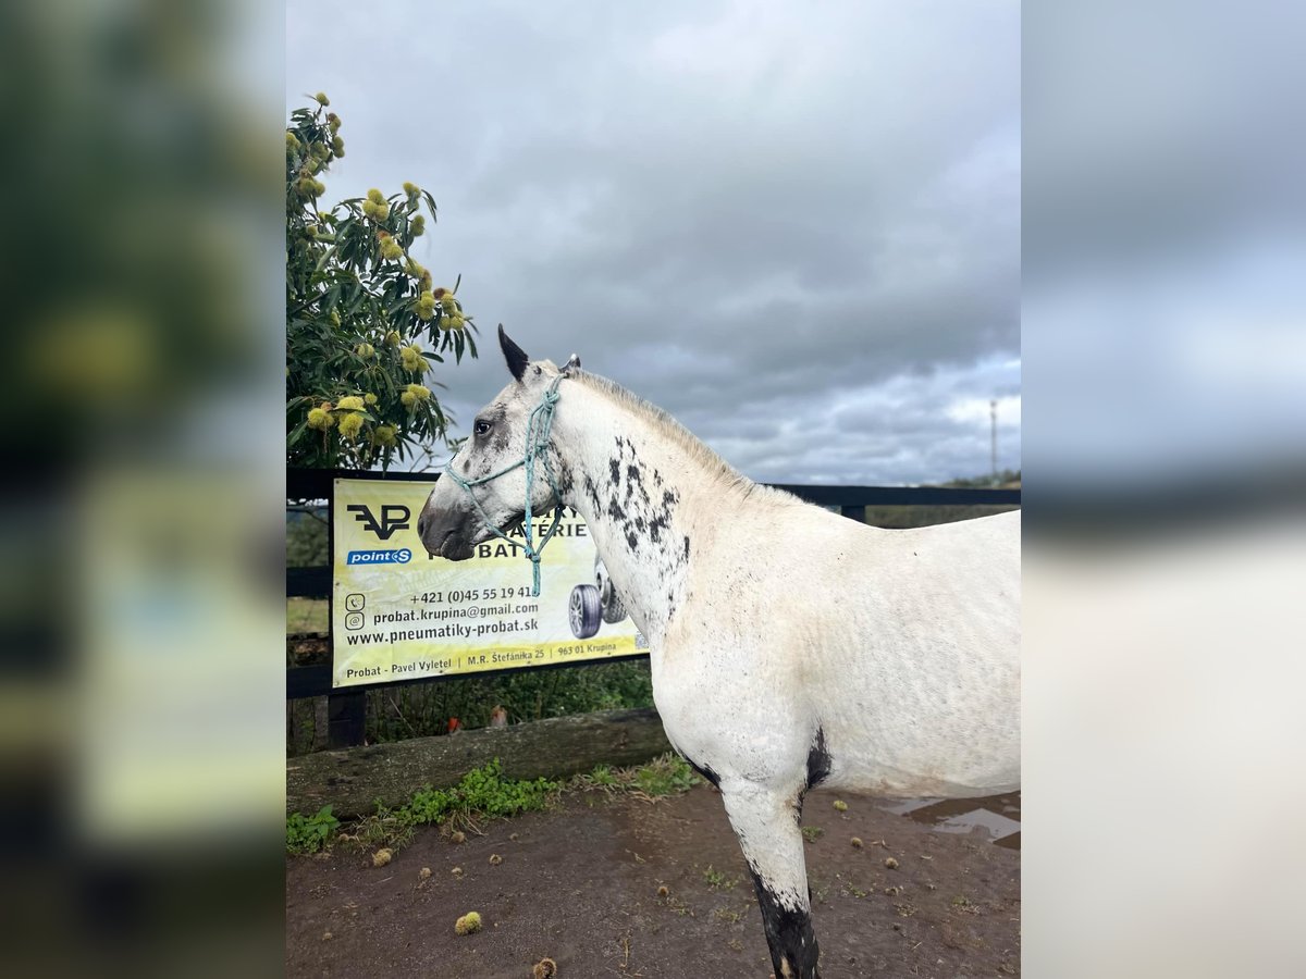
M 336 480 L 333 687 L 648 651 L 582 520 L 563 517 L 545 548 L 535 598 L 520 546 L 494 538 L 457 563 L 426 553 L 417 518 L 434 486 Z M 537 540 L 551 521 L 535 520 Z

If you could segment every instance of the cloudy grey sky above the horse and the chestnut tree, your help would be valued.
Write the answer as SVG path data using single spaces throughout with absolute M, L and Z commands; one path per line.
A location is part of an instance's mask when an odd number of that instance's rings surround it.
M 328 198 L 439 204 L 464 426 L 502 321 L 755 479 L 986 473 L 990 398 L 1020 466 L 1016 3 L 290 0 L 286 40 L 287 108 L 343 119 Z

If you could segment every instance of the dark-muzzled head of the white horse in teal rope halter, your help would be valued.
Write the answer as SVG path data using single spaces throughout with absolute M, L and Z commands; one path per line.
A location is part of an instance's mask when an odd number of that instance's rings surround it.
M 451 561 L 471 557 L 477 544 L 521 523 L 528 505 L 538 516 L 559 504 L 545 456 L 549 424 L 558 382 L 580 360 L 573 356 L 562 371 L 549 360 L 532 363 L 503 326 L 499 346 L 513 380 L 477 412 L 417 522 L 427 552 Z

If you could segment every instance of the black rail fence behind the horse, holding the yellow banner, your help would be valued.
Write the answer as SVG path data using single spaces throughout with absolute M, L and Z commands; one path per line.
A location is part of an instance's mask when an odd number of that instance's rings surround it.
M 336 479 L 379 479 L 394 482 L 434 482 L 436 474 L 431 473 L 360 473 L 357 470 L 330 470 L 330 469 L 287 469 L 286 470 L 286 500 L 289 504 L 299 504 L 311 500 L 325 500 L 328 516 L 333 509 Z M 867 508 L 875 506 L 1020 506 L 1020 489 L 959 489 L 951 487 L 876 487 L 876 486 L 789 486 L 773 484 L 778 489 L 785 489 L 808 503 L 819 506 L 837 508 L 840 513 L 852 520 L 865 520 Z M 334 555 L 334 534 L 328 520 L 328 553 Z M 287 598 L 317 598 L 332 597 L 332 568 L 286 568 L 286 597 Z M 328 616 L 328 623 L 330 623 Z M 332 625 L 328 624 L 328 649 L 332 646 L 329 634 Z M 602 663 L 618 662 L 620 659 L 645 659 L 646 653 L 631 657 L 611 657 Z M 559 663 L 537 670 L 575 670 L 593 664 L 592 662 Z M 520 668 L 520 667 L 518 667 Z M 477 674 L 490 676 L 492 671 Z M 286 670 L 286 698 L 298 700 L 303 697 L 326 697 L 326 744 L 330 748 L 343 748 L 363 743 L 366 722 L 366 696 L 372 687 L 396 687 L 410 683 L 438 683 L 439 676 L 424 676 L 415 680 L 392 680 L 385 684 L 359 685 L 347 689 L 332 688 L 330 663 L 316 666 L 287 667 Z

